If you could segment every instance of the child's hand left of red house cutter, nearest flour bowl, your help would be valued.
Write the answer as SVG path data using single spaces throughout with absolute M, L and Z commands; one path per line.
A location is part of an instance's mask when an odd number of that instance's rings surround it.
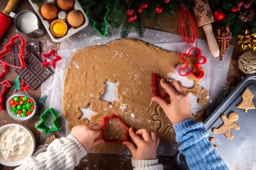
M 101 131 L 98 124 L 82 124 L 74 126 L 71 130 L 71 134 L 82 144 L 87 152 L 97 144 L 104 143 L 104 140 L 97 139 L 100 133 Z

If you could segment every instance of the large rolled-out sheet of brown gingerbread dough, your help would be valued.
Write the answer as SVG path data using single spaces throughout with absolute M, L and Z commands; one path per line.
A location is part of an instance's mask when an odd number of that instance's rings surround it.
M 173 73 L 174 65 L 182 63 L 180 56 L 180 52 L 168 52 L 131 39 L 114 40 L 104 46 L 90 46 L 75 52 L 67 65 L 63 89 L 63 114 L 68 128 L 89 122 L 101 125 L 104 116 L 117 114 L 135 130 L 147 128 L 158 132 L 161 142 L 176 142 L 172 124 L 164 112 L 156 111 L 158 105 L 151 101 L 152 73 L 167 79 Z M 199 86 L 199 79 L 188 78 L 195 81 L 195 86 L 185 88 L 185 91 L 195 95 L 203 107 L 197 116 L 193 115 L 199 121 L 203 118 L 208 93 Z M 118 101 L 110 103 L 100 99 L 106 89 L 106 80 L 117 81 Z M 168 101 L 168 96 L 165 99 Z M 89 104 L 96 112 L 91 121 L 81 118 L 79 110 Z M 120 153 L 124 148 L 122 144 L 102 144 L 94 147 L 94 151 Z

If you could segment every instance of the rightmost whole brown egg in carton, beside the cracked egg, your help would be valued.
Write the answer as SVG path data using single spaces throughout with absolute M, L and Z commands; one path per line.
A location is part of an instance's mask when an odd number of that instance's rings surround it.
M 79 27 L 84 24 L 84 15 L 81 11 L 73 10 L 67 14 L 67 22 L 73 27 Z

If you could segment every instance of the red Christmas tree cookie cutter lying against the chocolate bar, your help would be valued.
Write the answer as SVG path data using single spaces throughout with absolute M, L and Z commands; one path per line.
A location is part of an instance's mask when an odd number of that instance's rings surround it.
M 15 44 L 15 40 L 17 38 L 20 38 L 20 41 L 21 41 L 20 54 L 18 55 L 19 58 L 20 58 L 20 67 L 15 66 L 15 65 L 11 65 L 10 63 L 3 60 L 3 56 L 11 51 L 10 48 L 11 48 L 11 46 L 13 46 Z M 3 62 L 5 65 L 9 65 L 10 67 L 14 67 L 14 68 L 17 68 L 17 69 L 25 68 L 26 64 L 25 64 L 25 61 L 24 61 L 24 58 L 23 58 L 23 56 L 25 54 L 24 46 L 26 46 L 26 43 L 25 43 L 24 39 L 22 38 L 22 36 L 20 36 L 20 35 L 13 36 L 12 38 L 9 39 L 9 43 L 4 46 L 4 50 L 2 50 L 0 52 L 0 61 Z

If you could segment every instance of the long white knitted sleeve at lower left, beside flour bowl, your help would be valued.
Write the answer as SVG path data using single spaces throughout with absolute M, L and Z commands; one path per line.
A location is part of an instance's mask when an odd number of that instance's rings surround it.
M 65 170 L 74 169 L 80 160 L 87 155 L 86 150 L 71 134 L 67 138 L 55 139 L 37 157 L 28 157 L 16 170 Z

